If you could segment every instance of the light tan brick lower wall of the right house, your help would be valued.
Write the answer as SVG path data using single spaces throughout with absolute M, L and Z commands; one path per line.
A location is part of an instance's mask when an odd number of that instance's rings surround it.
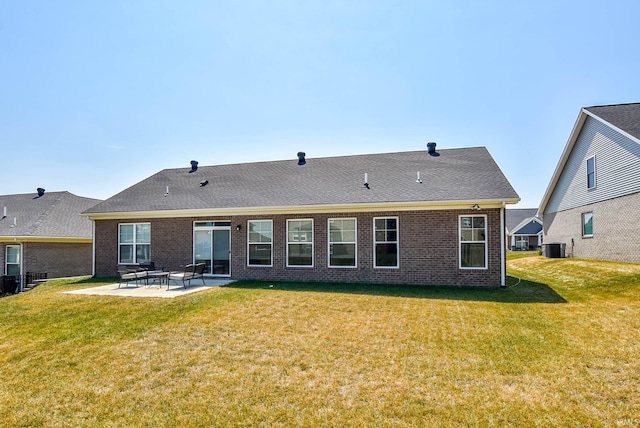
M 545 213 L 544 243 L 566 244 L 567 256 L 640 263 L 640 193 L 557 213 Z M 582 236 L 582 214 L 593 213 L 593 236 Z M 573 245 L 572 240 L 573 239 Z

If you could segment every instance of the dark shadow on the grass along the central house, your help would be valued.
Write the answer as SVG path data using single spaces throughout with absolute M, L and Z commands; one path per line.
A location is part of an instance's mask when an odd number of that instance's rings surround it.
M 273 289 L 297 292 L 345 293 L 417 299 L 467 300 L 498 303 L 567 303 L 546 284 L 509 277 L 505 288 L 451 286 L 342 284 L 323 282 L 238 281 L 226 288 Z

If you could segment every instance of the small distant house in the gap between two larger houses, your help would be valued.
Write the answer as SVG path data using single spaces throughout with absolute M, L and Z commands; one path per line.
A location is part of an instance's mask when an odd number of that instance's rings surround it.
M 507 249 L 536 250 L 542 247 L 542 220 L 537 208 L 507 210 Z

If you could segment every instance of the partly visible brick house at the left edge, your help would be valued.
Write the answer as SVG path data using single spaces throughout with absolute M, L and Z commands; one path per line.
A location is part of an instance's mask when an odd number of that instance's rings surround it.
M 90 275 L 92 224 L 80 213 L 100 202 L 69 192 L 0 195 L 2 275 Z

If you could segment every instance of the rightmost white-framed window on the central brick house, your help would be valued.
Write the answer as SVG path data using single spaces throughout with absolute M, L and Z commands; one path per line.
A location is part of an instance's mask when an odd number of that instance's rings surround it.
M 487 217 L 460 216 L 460 268 L 487 268 Z

